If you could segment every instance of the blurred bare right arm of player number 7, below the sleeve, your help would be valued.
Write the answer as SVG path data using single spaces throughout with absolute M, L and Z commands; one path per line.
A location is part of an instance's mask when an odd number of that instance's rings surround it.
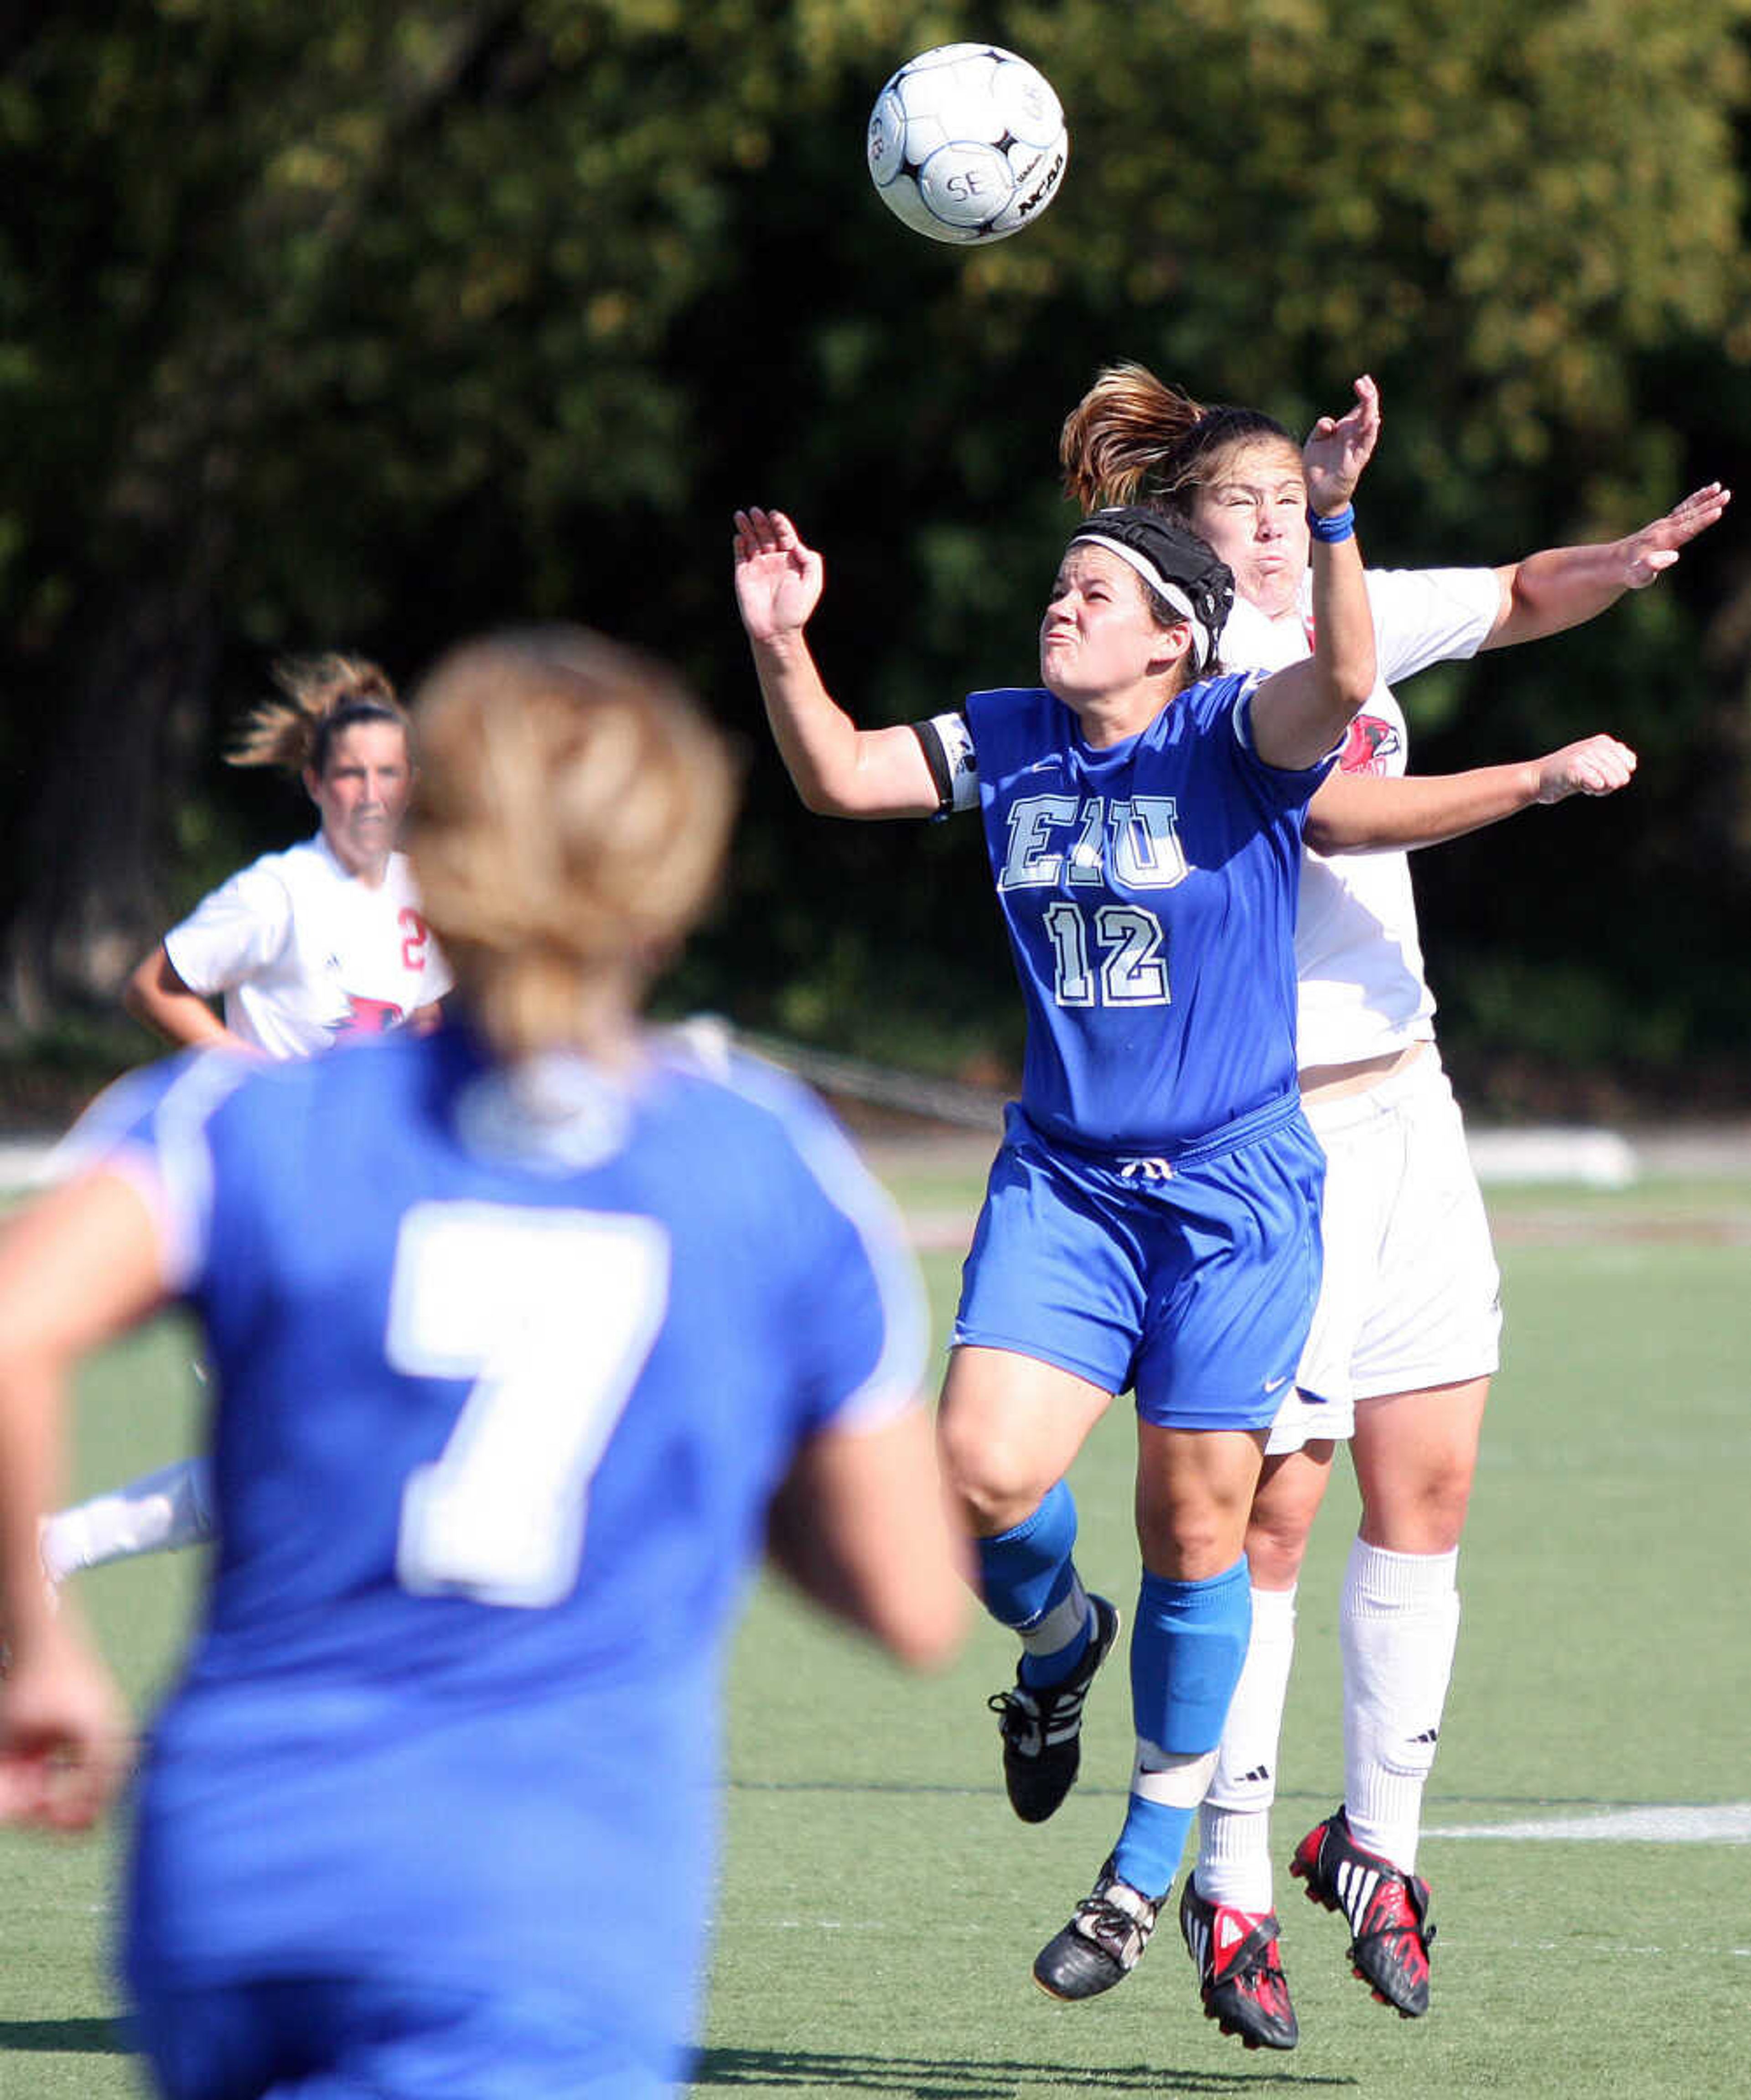
M 959 1648 L 972 1562 L 922 1407 L 813 1436 L 773 1499 L 766 1550 L 806 1596 L 913 1670 L 938 1670 Z

